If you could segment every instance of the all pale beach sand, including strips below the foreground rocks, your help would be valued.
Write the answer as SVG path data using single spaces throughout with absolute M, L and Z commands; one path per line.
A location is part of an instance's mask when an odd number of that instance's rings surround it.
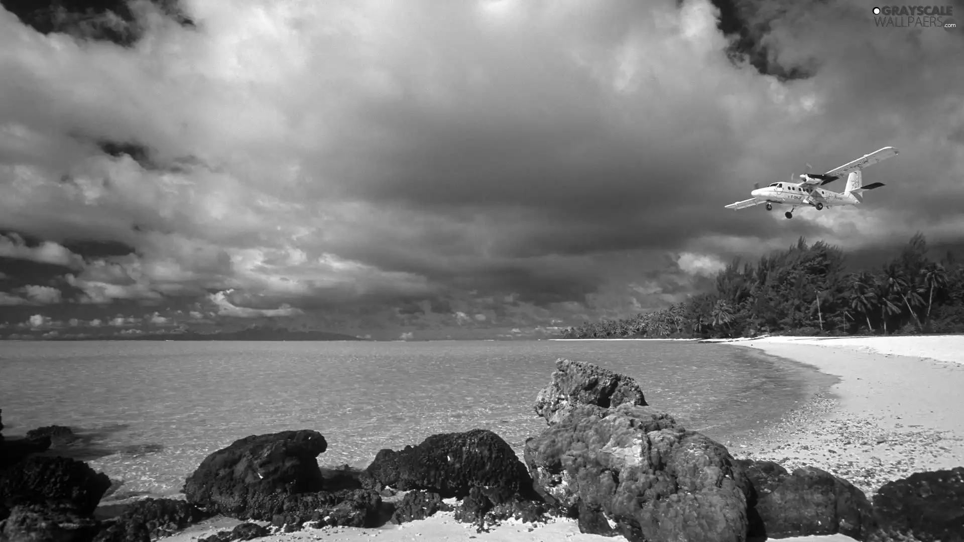
M 964 464 L 964 336 L 889 338 L 772 337 L 727 341 L 814 366 L 839 381 L 745 441 L 726 443 L 738 458 L 777 461 L 789 471 L 812 465 L 837 474 L 870 497 L 908 474 Z M 197 540 L 237 525 L 215 518 L 169 538 Z M 384 528 L 322 528 L 278 533 L 265 542 L 295 540 L 445 540 L 590 542 L 625 540 L 582 534 L 574 521 L 532 526 L 505 522 L 488 532 L 455 522 L 451 513 Z M 844 535 L 785 538 L 836 541 Z

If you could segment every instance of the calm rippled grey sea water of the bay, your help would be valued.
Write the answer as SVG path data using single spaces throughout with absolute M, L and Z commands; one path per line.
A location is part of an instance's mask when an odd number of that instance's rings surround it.
M 816 371 L 746 348 L 683 341 L 0 342 L 4 434 L 68 425 L 113 496 L 177 495 L 212 451 L 315 429 L 321 465 L 486 428 L 521 453 L 557 358 L 637 379 L 651 405 L 722 443 L 778 420 Z M 823 383 L 825 384 L 825 383 Z

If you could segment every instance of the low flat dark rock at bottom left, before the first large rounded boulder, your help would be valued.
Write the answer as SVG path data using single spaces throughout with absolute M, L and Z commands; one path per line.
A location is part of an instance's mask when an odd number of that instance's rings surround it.
M 147 532 L 147 536 L 158 538 L 174 534 L 174 532 L 201 522 L 210 517 L 211 514 L 201 510 L 194 504 L 187 501 L 174 501 L 173 499 L 145 499 L 136 501 L 126 506 L 120 516 L 111 522 L 112 527 L 116 527 L 105 535 L 98 542 L 108 540 L 122 540 L 116 538 L 120 533 L 140 533 Z M 143 528 L 142 528 L 143 526 Z M 141 535 L 138 534 L 138 537 Z

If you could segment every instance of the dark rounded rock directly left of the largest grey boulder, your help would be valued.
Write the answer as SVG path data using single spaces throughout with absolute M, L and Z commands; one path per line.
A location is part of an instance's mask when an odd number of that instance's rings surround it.
M 466 497 L 472 487 L 501 491 L 504 498 L 530 495 L 532 480 L 516 452 L 487 429 L 432 435 L 416 447 L 383 449 L 366 472 L 402 491 L 426 490 L 442 498 Z

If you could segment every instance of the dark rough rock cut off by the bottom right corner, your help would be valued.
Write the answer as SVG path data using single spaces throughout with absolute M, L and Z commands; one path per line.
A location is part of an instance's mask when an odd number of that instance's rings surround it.
M 964 467 L 914 473 L 886 483 L 873 496 L 877 529 L 868 540 L 914 537 L 922 542 L 964 540 Z

